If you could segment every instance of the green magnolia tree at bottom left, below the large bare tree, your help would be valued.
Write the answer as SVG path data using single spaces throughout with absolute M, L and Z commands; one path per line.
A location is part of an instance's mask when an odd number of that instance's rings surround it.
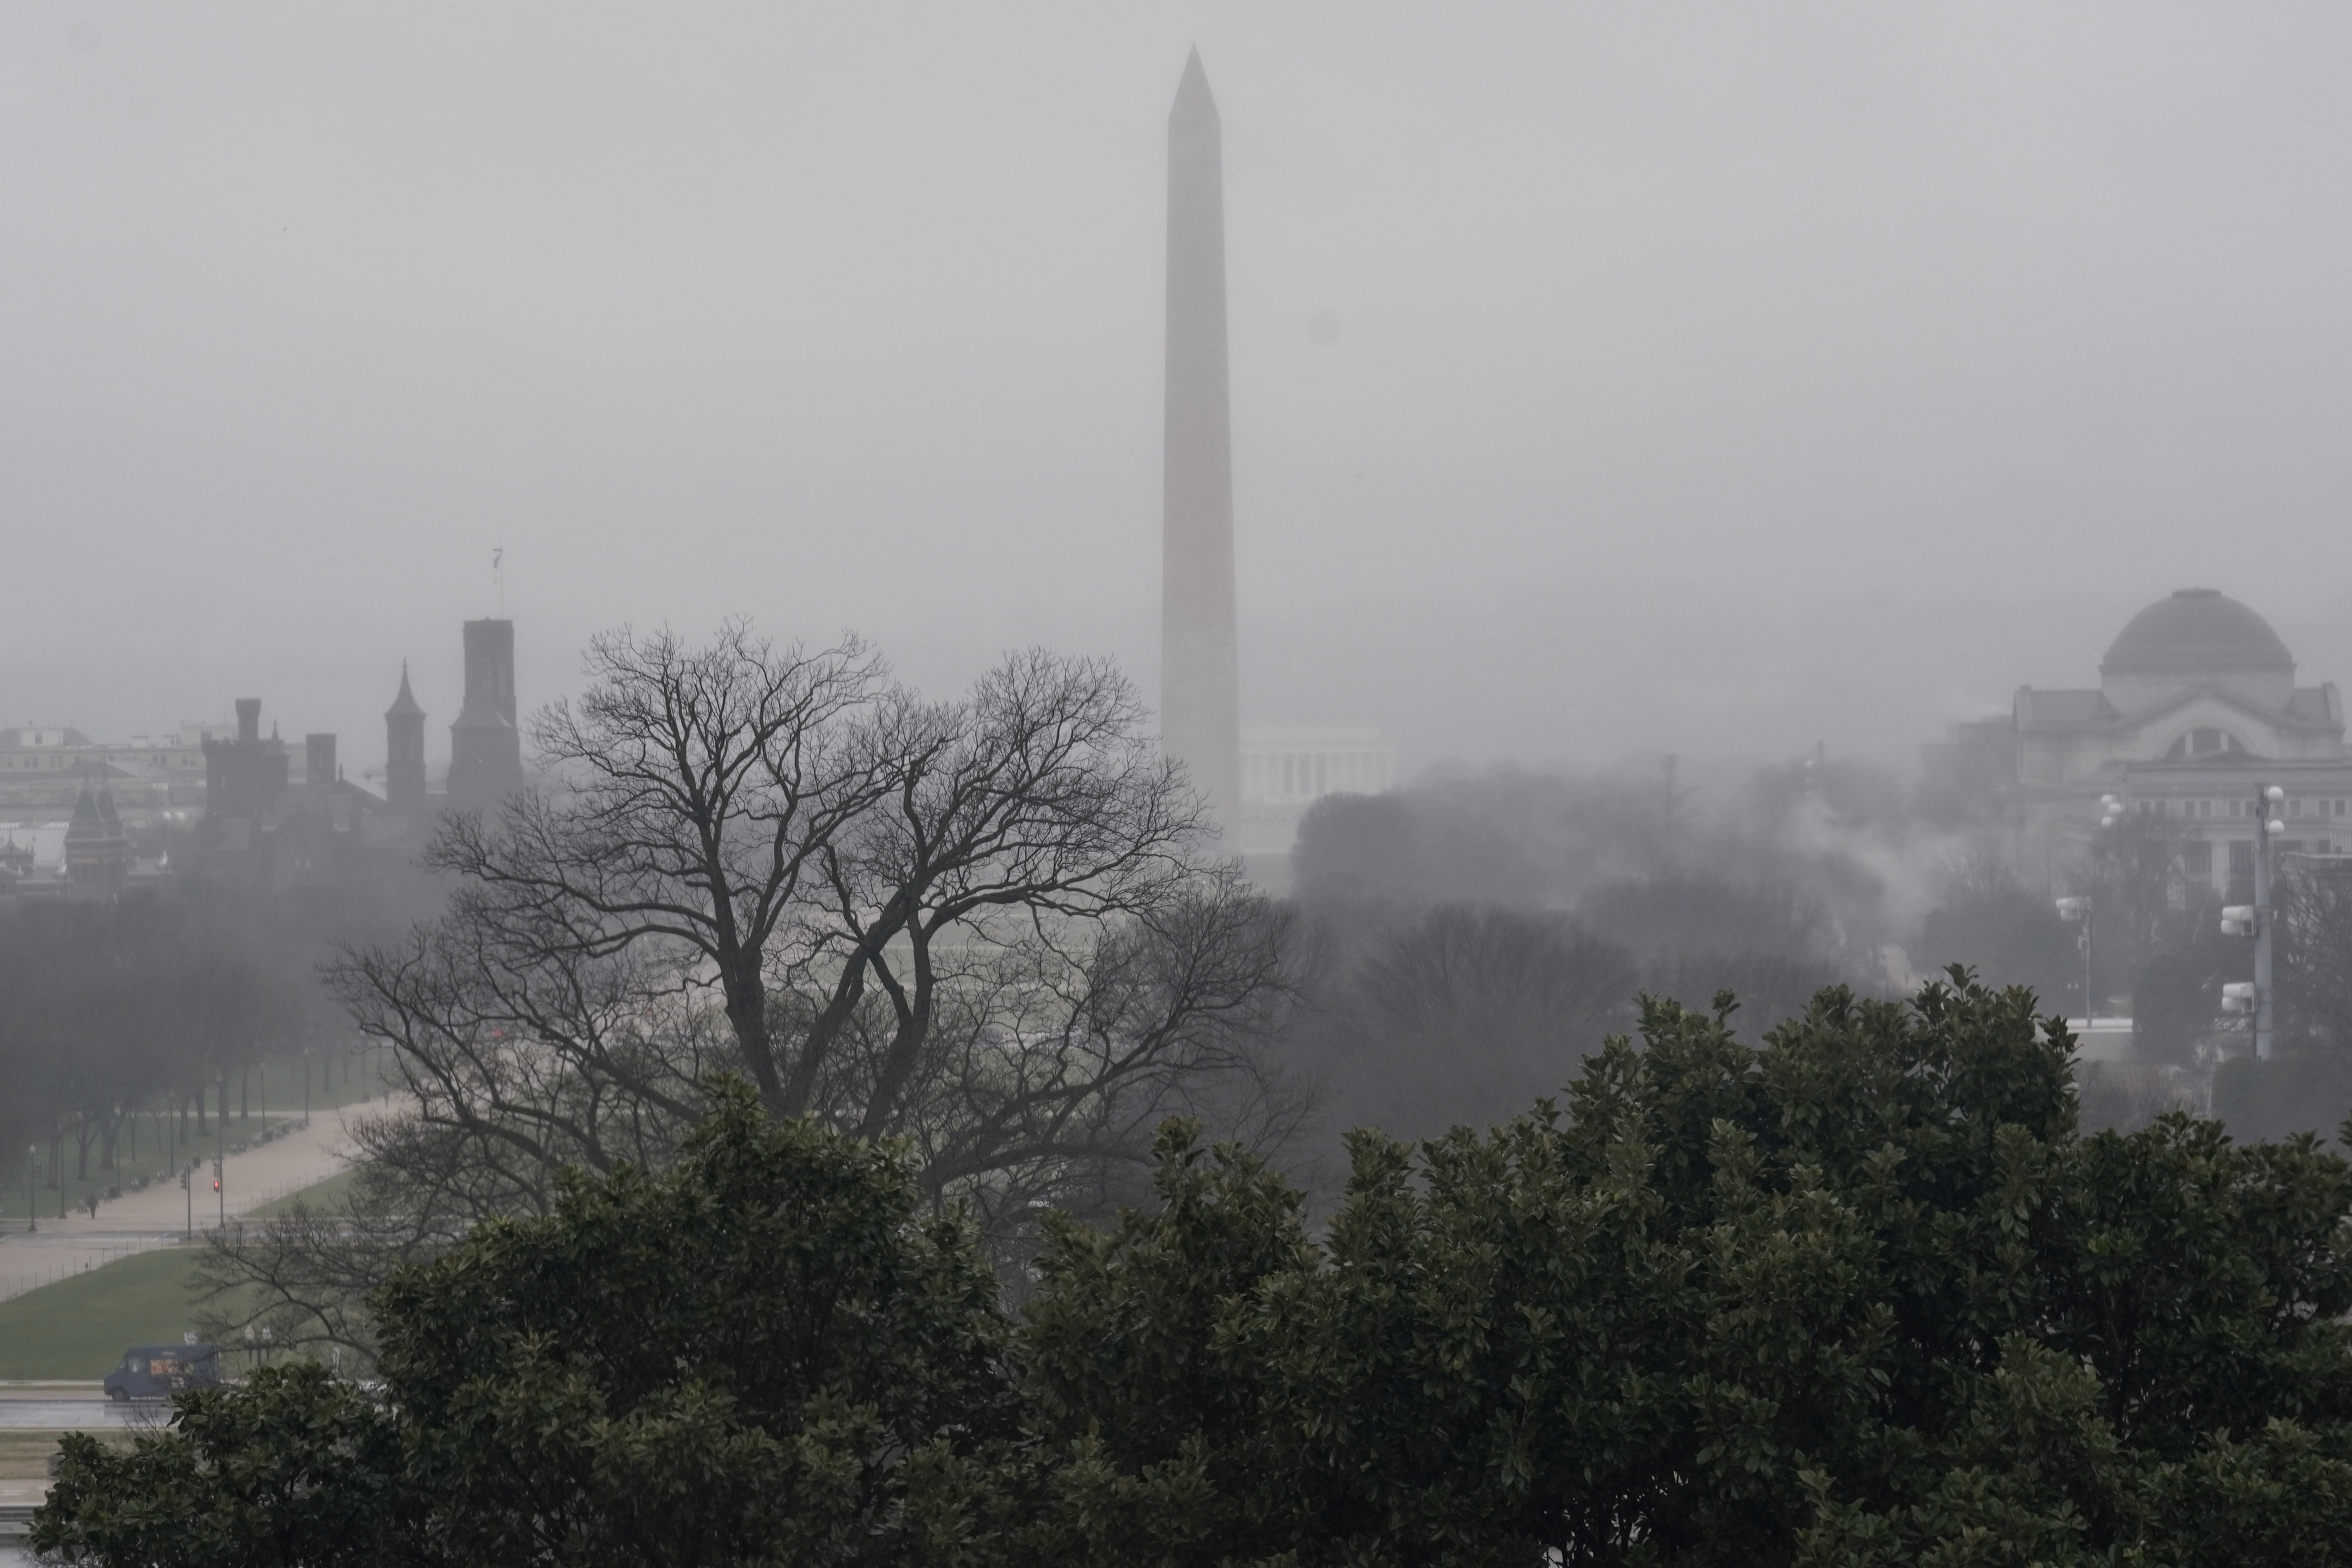
M 889 1152 L 736 1091 L 673 1171 L 572 1178 L 550 1215 L 395 1276 L 376 1399 L 306 1368 L 191 1394 L 129 1453 L 66 1439 L 35 1542 L 191 1566 L 922 1561 L 920 1497 L 1014 1406 L 995 1279 L 915 1208 Z

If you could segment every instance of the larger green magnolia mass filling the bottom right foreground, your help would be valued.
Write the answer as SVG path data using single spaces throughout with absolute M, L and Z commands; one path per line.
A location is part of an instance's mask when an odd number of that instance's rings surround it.
M 2338 1561 L 2340 1159 L 2079 1138 L 2025 992 L 1726 1011 L 1359 1135 L 1319 1246 L 1176 1133 L 1028 1312 L 1061 1561 Z

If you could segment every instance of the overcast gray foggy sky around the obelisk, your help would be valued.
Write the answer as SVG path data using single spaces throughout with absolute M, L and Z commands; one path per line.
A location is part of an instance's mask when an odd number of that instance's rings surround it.
M 2343 5 L 0 9 L 0 719 L 381 759 L 616 621 L 1155 677 L 1225 118 L 1244 710 L 1889 755 L 2218 585 L 2352 682 Z M 1341 334 L 1310 339 L 1334 313 Z

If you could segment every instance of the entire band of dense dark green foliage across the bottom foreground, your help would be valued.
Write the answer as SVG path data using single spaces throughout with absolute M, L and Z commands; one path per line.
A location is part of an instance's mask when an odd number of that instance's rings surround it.
M 2025 992 L 1653 1004 L 1562 1105 L 1352 1140 L 1329 1227 L 1162 1133 L 1018 1324 L 903 1166 L 729 1103 L 379 1300 L 40 1537 L 101 1563 L 2333 1563 L 2352 1168 L 2074 1131 Z M 285 1432 L 318 1434 L 292 1441 Z M 318 1448 L 313 1455 L 310 1448 Z M 310 1530 L 320 1495 L 350 1528 Z M 169 1549 L 167 1521 L 186 1521 Z M 259 1544 L 209 1554 L 230 1528 Z M 275 1556 L 270 1556 L 275 1552 Z

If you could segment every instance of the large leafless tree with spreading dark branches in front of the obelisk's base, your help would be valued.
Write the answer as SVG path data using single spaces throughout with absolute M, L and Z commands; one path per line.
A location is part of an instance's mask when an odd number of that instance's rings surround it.
M 379 1211 L 223 1239 L 219 1300 L 259 1284 L 346 1342 L 273 1281 L 541 1208 L 564 1166 L 659 1164 L 720 1072 L 910 1140 L 936 1201 L 1004 1232 L 1117 1192 L 1169 1112 L 1296 1128 L 1263 1051 L 1284 919 L 1110 663 L 1014 654 L 927 703 L 854 639 L 731 623 L 597 637 L 588 672 L 532 724 L 548 788 L 435 839 L 447 914 L 329 971 L 414 1098 L 362 1135 Z

